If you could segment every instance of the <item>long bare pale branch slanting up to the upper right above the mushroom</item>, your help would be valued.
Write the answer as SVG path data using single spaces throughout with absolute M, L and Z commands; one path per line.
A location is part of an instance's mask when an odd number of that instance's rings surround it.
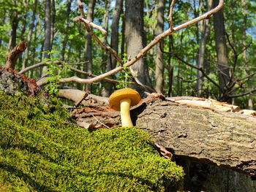
M 79 0 L 78 0 L 78 2 L 79 2 Z M 140 53 L 138 53 L 138 55 L 135 56 L 135 58 L 132 58 L 132 60 L 128 61 L 126 64 L 124 64 L 124 66 L 127 66 L 127 67 L 132 66 L 132 64 L 135 64 L 135 62 L 140 60 L 140 58 L 143 58 L 143 56 L 148 52 L 148 50 L 151 50 L 151 48 L 154 47 L 154 45 L 157 45 L 157 43 L 159 41 L 161 41 L 162 39 L 164 39 L 165 37 L 176 33 L 177 31 L 181 30 L 182 28 L 187 28 L 188 26 L 192 26 L 195 23 L 198 23 L 200 20 L 204 20 L 206 18 L 209 18 L 215 12 L 218 12 L 219 9 L 222 9 L 223 6 L 224 6 L 224 1 L 220 0 L 217 7 L 215 7 L 214 9 L 211 9 L 210 11 L 206 12 L 205 14 L 200 15 L 199 17 L 197 17 L 193 20 L 189 20 L 187 23 L 183 23 L 180 26 L 176 26 L 175 28 L 168 28 L 165 32 L 163 32 L 162 34 L 159 34 L 157 37 L 155 37 L 146 47 L 144 47 L 140 51 Z M 81 7 L 81 6 L 78 4 L 78 7 Z M 83 7 L 83 5 L 82 5 L 82 7 Z M 81 8 L 80 8 L 80 10 L 81 10 Z M 93 77 L 91 79 L 81 79 L 81 78 L 78 78 L 78 77 L 69 77 L 69 78 L 62 79 L 62 82 L 76 81 L 76 82 L 80 82 L 80 83 L 92 83 L 92 82 L 102 80 L 105 77 L 108 77 L 110 75 L 116 74 L 117 72 L 120 72 L 121 70 L 122 70 L 121 66 L 118 66 L 116 69 L 112 69 L 109 72 L 106 72 L 104 74 L 100 74 L 99 76 Z

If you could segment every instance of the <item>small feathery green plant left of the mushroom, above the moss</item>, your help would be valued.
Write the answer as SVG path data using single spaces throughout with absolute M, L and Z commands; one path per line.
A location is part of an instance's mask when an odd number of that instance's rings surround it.
M 45 70 L 47 74 L 47 85 L 45 85 L 45 90 L 48 91 L 50 95 L 56 95 L 59 92 L 58 84 L 59 79 L 61 78 L 61 72 L 64 69 L 69 69 L 67 64 L 57 64 L 54 61 L 57 61 L 56 58 L 53 58 L 52 55 L 56 53 L 56 50 L 43 51 L 42 53 L 47 53 L 50 55 L 50 58 L 45 59 L 43 62 L 48 65 L 48 68 Z

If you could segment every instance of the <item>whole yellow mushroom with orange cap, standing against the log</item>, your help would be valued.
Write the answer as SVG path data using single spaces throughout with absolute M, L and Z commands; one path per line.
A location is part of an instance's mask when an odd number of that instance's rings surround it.
M 124 88 L 112 93 L 109 97 L 109 104 L 113 110 L 120 111 L 121 125 L 123 127 L 132 127 L 132 120 L 129 114 L 129 107 L 138 104 L 140 101 L 140 94 L 131 89 Z

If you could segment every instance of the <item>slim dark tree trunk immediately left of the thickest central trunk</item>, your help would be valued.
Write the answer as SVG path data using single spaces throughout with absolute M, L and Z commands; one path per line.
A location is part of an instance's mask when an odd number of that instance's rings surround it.
M 111 24 L 111 41 L 110 41 L 110 47 L 112 47 L 113 50 L 116 50 L 116 54 L 118 54 L 118 28 L 119 28 L 119 20 L 121 12 L 123 11 L 123 0 L 116 0 L 115 9 L 113 10 L 113 18 L 112 18 L 112 24 Z M 111 69 L 116 68 L 116 58 L 114 58 L 112 55 L 110 55 L 110 58 L 108 59 L 108 66 L 107 71 L 110 71 Z M 113 84 L 110 82 L 105 83 L 105 88 L 102 91 L 102 96 L 110 96 L 110 94 L 113 92 Z

